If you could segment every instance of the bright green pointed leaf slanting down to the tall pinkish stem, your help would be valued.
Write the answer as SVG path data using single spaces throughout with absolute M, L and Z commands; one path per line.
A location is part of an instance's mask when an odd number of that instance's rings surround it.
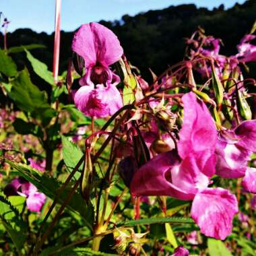
M 44 79 L 45 82 L 53 85 L 54 84 L 54 78 L 53 73 L 48 70 L 48 67 L 46 64 L 42 63 L 38 59 L 34 58 L 32 54 L 26 50 L 27 58 L 30 61 L 32 68 L 36 75 L 40 76 L 42 79 Z

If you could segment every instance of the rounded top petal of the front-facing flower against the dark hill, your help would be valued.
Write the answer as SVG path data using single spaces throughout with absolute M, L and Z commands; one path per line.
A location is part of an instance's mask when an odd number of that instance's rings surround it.
M 95 65 L 97 61 L 103 66 L 112 65 L 123 55 L 117 36 L 94 22 L 82 25 L 75 33 L 72 50 L 84 57 L 86 67 Z

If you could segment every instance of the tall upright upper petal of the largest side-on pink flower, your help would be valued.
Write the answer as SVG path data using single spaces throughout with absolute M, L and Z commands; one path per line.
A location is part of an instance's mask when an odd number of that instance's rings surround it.
M 197 164 L 203 173 L 211 177 L 215 172 L 214 150 L 217 131 L 207 106 L 193 92 L 182 98 L 184 104 L 183 126 L 179 133 L 179 156 L 185 159 L 191 152 L 199 156 Z M 209 165 L 211 160 L 211 166 Z

